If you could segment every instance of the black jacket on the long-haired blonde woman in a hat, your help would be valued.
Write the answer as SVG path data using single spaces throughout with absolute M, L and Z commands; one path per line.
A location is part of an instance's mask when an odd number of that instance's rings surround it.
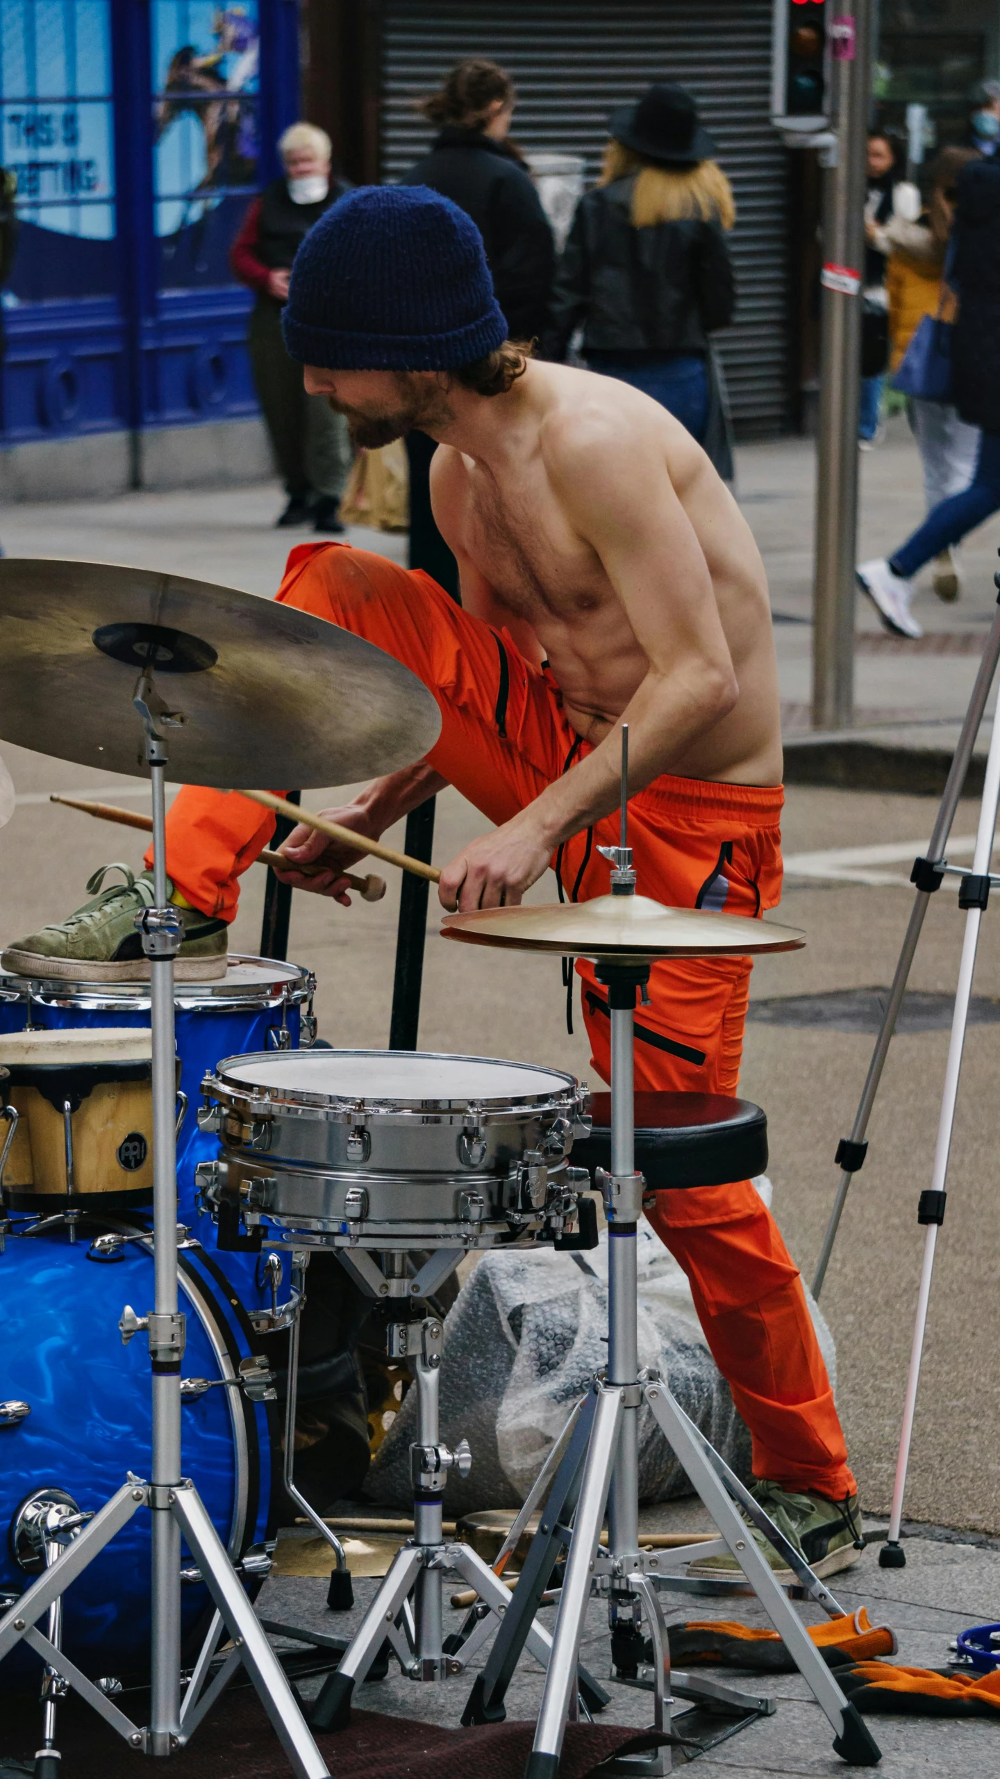
M 733 262 L 717 222 L 633 228 L 635 174 L 577 205 L 555 278 L 546 358 L 584 326 L 584 352 L 705 352 L 733 318 Z

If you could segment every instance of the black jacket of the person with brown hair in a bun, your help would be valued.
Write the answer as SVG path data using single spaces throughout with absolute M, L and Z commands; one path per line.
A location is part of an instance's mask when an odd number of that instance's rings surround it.
M 534 340 L 548 322 L 555 242 L 541 199 L 520 160 L 479 130 L 441 130 L 404 185 L 429 185 L 472 217 L 493 272 L 512 340 Z

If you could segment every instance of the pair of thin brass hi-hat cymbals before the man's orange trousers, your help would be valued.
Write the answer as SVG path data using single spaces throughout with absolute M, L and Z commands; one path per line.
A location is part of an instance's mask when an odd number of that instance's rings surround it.
M 753 957 L 756 952 L 797 952 L 806 943 L 797 927 L 746 914 L 712 914 L 701 907 L 664 907 L 644 895 L 447 914 L 441 938 L 562 957 Z

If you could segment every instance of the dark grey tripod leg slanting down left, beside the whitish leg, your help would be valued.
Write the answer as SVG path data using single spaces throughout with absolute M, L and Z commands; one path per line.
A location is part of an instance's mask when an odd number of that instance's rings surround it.
M 1000 587 L 1000 576 L 995 575 L 993 580 Z M 982 715 L 986 710 L 986 701 L 989 697 L 989 687 L 993 685 L 993 676 L 996 672 L 998 660 L 1000 660 L 1000 610 L 993 619 L 993 628 L 982 649 L 982 660 L 979 664 L 979 672 L 975 676 L 975 685 L 972 688 L 972 697 L 968 701 L 968 710 L 959 735 L 959 744 L 956 747 L 956 754 L 948 770 L 948 781 L 945 785 L 945 793 L 941 797 L 941 806 L 938 809 L 938 818 L 934 822 L 934 833 L 931 834 L 931 843 L 927 847 L 927 857 L 918 859 L 916 865 L 913 866 L 916 897 L 909 914 L 906 938 L 902 941 L 902 952 L 899 954 L 899 962 L 895 966 L 895 977 L 890 989 L 886 1010 L 883 1014 L 879 1035 L 875 1039 L 875 1050 L 868 1064 L 868 1075 L 865 1078 L 865 1087 L 861 1091 L 861 1101 L 858 1105 L 858 1112 L 854 1114 L 851 1137 L 842 1139 L 836 1149 L 836 1160 L 842 1167 L 842 1172 L 840 1172 L 840 1183 L 836 1187 L 836 1197 L 833 1203 L 827 1231 L 820 1249 L 817 1272 L 813 1277 L 813 1297 L 817 1299 L 824 1286 L 826 1268 L 829 1267 L 829 1256 L 833 1254 L 833 1244 L 836 1242 L 836 1231 L 840 1229 L 840 1219 L 843 1215 L 843 1206 L 847 1204 L 851 1179 L 865 1162 L 865 1151 L 868 1147 L 865 1133 L 868 1130 L 868 1119 L 872 1115 L 875 1094 L 883 1080 L 883 1069 L 886 1066 L 886 1057 L 890 1053 L 890 1042 L 895 1032 L 895 1021 L 899 1018 L 899 1010 L 902 1007 L 906 984 L 909 982 L 909 971 L 913 968 L 913 957 L 916 954 L 920 930 L 923 927 L 923 916 L 927 913 L 927 904 L 934 890 L 940 890 L 941 886 L 941 873 L 936 872 L 934 866 L 943 865 L 945 861 L 948 834 L 952 833 L 956 808 L 963 793 L 963 785 L 968 776 L 972 751 L 975 747 L 975 738 L 982 724 Z M 989 870 L 989 865 L 986 865 L 986 870 Z

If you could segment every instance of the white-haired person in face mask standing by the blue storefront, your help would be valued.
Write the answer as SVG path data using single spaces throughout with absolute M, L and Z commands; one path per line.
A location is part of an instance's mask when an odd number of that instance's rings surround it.
M 281 338 L 281 310 L 299 244 L 351 185 L 331 169 L 331 141 L 311 123 L 294 123 L 278 141 L 285 174 L 251 203 L 230 251 L 242 285 L 256 290 L 249 354 L 256 395 L 288 503 L 278 525 L 342 532 L 340 496 L 351 471 L 351 441 L 342 415 L 324 395 L 306 395 L 302 368 Z

